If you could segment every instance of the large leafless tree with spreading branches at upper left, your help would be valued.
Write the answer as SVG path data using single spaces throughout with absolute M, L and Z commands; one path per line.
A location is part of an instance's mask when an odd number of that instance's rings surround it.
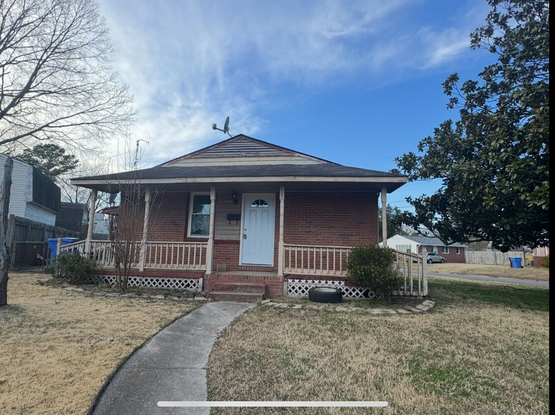
M 112 57 L 93 0 L 0 0 L 0 151 L 50 140 L 79 156 L 124 134 L 135 110 Z

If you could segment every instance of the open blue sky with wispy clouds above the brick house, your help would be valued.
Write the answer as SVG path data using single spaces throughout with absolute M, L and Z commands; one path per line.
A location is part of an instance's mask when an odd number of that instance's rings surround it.
M 133 4 L 133 6 L 130 6 Z M 100 0 L 114 68 L 139 110 L 133 138 L 153 166 L 246 134 L 375 170 L 415 151 L 457 113 L 441 83 L 476 78 L 495 57 L 470 50 L 486 0 Z M 117 149 L 112 148 L 116 153 Z M 438 181 L 389 196 L 430 194 Z

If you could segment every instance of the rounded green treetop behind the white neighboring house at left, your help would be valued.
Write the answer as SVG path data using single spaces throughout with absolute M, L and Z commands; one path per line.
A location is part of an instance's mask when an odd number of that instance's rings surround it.
M 38 144 L 32 149 L 23 150 L 16 157 L 35 166 L 54 181 L 60 174 L 75 170 L 79 165 L 79 160 L 73 154 L 65 154 L 65 150 L 57 144 Z

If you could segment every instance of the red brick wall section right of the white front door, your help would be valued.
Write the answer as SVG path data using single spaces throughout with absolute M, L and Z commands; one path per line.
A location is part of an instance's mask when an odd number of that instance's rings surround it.
M 377 244 L 376 193 L 285 192 L 286 244 Z

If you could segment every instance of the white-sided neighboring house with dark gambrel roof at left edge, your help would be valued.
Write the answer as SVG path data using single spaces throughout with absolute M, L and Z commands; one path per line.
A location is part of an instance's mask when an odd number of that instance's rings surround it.
M 0 153 L 0 180 L 4 178 L 6 159 Z M 60 188 L 37 168 L 14 159 L 8 215 L 54 225 L 59 209 Z

